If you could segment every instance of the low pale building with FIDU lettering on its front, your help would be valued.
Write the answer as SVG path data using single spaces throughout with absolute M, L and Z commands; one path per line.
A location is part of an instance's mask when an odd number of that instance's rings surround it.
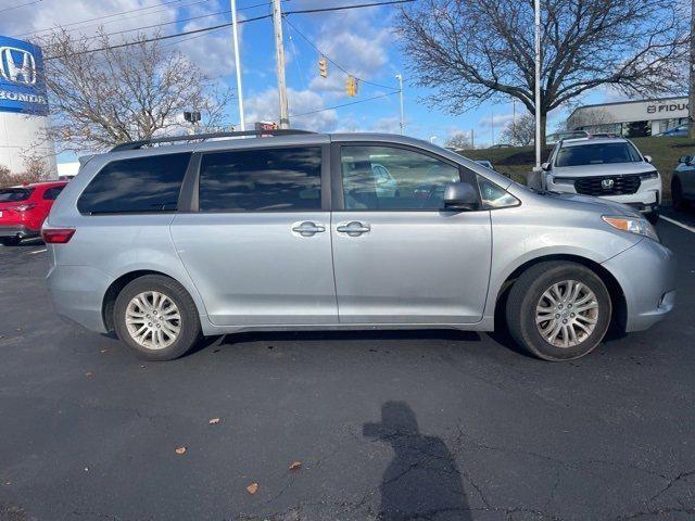
M 567 118 L 572 130 L 611 132 L 629 138 L 655 136 L 687 123 L 687 98 L 621 101 L 576 109 Z

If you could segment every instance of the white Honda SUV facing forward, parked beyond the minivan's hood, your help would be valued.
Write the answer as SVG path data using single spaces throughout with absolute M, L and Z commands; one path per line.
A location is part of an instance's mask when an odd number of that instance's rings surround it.
M 661 176 L 652 157 L 624 138 L 559 141 L 542 165 L 543 188 L 595 195 L 628 204 L 655 223 L 661 201 Z

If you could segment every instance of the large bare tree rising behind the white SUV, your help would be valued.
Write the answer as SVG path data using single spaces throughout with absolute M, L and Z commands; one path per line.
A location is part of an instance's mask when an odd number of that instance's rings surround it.
M 690 3 L 690 2 L 688 2 Z M 488 100 L 520 100 L 535 114 L 532 0 L 421 0 L 397 30 L 418 85 L 453 114 Z M 610 85 L 627 94 L 683 90 L 687 39 L 682 0 L 542 2 L 542 143 L 546 116 Z

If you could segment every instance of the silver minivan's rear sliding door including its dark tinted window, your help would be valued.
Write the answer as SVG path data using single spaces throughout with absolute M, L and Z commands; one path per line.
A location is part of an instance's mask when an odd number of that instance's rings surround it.
M 172 236 L 214 325 L 338 322 L 327 150 L 202 154 L 198 208 Z

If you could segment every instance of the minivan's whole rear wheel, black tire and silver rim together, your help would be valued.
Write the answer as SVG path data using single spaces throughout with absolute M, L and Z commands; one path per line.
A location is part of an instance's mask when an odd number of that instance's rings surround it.
M 147 360 L 178 358 L 200 338 L 193 300 L 181 284 L 162 275 L 135 279 L 118 293 L 114 325 L 118 338 Z

